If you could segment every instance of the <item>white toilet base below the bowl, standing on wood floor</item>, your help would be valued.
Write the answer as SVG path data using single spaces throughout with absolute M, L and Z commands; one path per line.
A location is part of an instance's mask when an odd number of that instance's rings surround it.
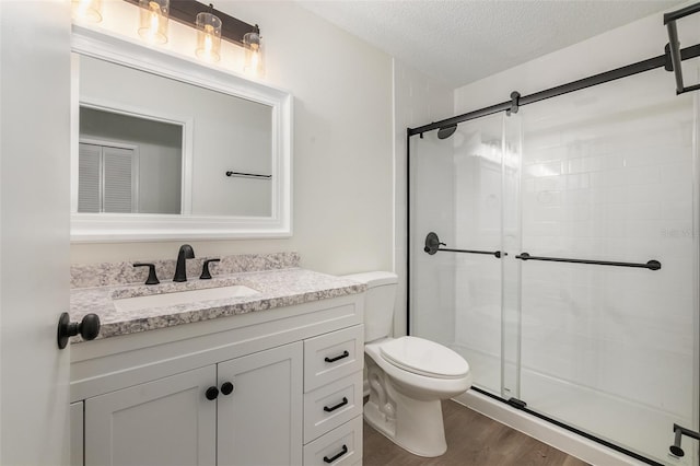
M 418 456 L 435 457 L 447 451 L 440 399 L 421 401 L 392 391 L 394 409 L 381 409 L 376 399 L 364 405 L 364 419 L 388 440 Z M 390 412 L 394 410 L 395 412 Z M 392 416 L 394 415 L 394 416 Z

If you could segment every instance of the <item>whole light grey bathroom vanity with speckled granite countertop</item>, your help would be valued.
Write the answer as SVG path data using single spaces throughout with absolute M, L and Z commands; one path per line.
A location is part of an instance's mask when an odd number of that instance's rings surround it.
M 72 341 L 73 464 L 361 464 L 365 287 L 269 256 L 222 273 L 232 257 L 159 286 L 124 283 L 144 273 L 126 263 L 74 268 L 71 316 L 102 329 Z

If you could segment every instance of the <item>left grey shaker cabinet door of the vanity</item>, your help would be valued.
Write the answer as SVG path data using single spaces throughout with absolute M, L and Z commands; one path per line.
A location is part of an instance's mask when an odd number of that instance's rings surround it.
M 215 465 L 215 365 L 85 400 L 85 466 Z

